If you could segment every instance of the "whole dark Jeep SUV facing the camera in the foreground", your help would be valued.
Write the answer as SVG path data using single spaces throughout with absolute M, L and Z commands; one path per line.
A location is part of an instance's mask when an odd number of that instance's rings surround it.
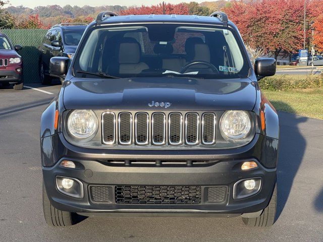
M 41 117 L 43 210 L 51 226 L 86 216 L 276 213 L 279 124 L 236 26 L 210 17 L 117 16 L 88 25 Z

